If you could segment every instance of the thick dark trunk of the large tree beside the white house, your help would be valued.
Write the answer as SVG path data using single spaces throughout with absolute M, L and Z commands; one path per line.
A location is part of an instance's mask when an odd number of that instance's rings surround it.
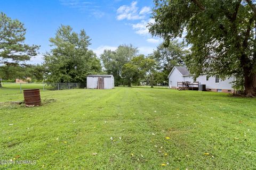
M 244 88 L 247 97 L 256 96 L 256 74 L 244 71 Z

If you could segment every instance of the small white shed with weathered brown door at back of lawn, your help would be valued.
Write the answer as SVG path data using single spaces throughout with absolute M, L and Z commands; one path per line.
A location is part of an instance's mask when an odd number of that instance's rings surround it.
M 88 75 L 87 89 L 113 89 L 115 86 L 113 75 Z

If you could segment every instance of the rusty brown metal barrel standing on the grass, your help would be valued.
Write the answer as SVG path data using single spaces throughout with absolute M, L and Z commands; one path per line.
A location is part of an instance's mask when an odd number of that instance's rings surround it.
M 24 100 L 26 106 L 40 106 L 41 97 L 39 89 L 23 90 Z

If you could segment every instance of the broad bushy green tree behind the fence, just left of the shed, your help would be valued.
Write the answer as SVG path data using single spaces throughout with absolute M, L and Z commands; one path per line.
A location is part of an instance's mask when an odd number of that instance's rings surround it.
M 87 48 L 90 37 L 84 30 L 76 33 L 69 25 L 61 25 L 50 43 L 54 48 L 44 55 L 46 81 L 85 83 L 88 74 L 101 71 L 97 56 Z

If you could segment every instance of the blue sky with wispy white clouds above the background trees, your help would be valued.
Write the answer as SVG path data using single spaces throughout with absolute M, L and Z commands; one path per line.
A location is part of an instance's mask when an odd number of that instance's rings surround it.
M 75 32 L 85 29 L 92 39 L 89 48 L 98 56 L 121 44 L 132 44 L 141 54 L 152 53 L 161 43 L 146 28 L 153 6 L 153 1 L 145 0 L 2 0 L 0 11 L 25 24 L 26 43 L 41 45 L 30 63 L 42 63 L 42 54 L 50 51 L 49 38 L 61 24 Z

